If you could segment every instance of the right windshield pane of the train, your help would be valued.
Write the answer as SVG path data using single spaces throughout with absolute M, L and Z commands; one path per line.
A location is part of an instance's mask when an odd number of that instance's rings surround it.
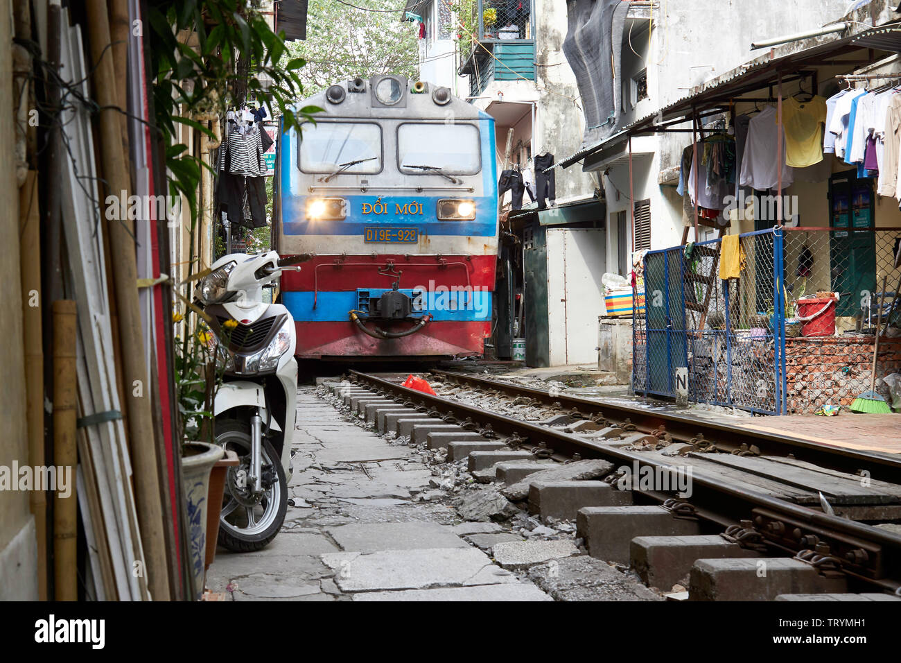
M 414 124 L 397 128 L 401 172 L 475 175 L 481 170 L 478 128 L 473 124 Z

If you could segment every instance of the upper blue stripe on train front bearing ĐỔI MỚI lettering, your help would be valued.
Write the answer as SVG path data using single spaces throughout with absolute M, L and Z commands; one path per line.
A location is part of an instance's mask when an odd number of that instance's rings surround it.
M 491 237 L 497 234 L 496 198 L 470 198 L 476 203 L 476 220 L 474 221 L 439 221 L 437 219 L 438 201 L 441 198 L 467 198 L 467 194 L 437 196 L 385 196 L 378 197 L 378 186 L 373 187 L 371 194 L 364 196 L 341 196 L 348 201 L 347 218 L 341 221 L 307 220 L 305 218 L 306 196 L 283 196 L 282 226 L 286 235 L 363 235 L 367 227 L 390 226 L 396 228 L 417 228 L 419 232 L 429 236 L 436 235 L 472 235 Z M 371 211 L 376 205 L 378 213 Z M 422 207 L 422 214 L 403 214 L 409 210 L 411 203 Z M 369 214 L 364 214 L 364 204 Z M 380 210 L 384 209 L 382 213 Z

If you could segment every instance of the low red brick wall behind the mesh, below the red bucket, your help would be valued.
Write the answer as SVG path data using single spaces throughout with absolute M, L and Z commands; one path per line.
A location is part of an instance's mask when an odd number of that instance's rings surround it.
M 846 407 L 869 391 L 873 340 L 872 336 L 787 338 L 788 412 L 813 412 L 824 403 Z M 888 390 L 880 378 L 896 372 L 901 372 L 901 339 L 882 337 L 876 391 L 887 401 Z

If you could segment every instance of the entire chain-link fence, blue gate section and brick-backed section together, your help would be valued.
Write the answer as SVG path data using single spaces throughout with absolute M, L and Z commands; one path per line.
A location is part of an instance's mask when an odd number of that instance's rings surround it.
M 762 230 L 645 255 L 633 390 L 759 413 L 847 406 L 901 372 L 901 229 Z M 721 262 L 737 278 L 720 279 Z M 886 285 L 883 287 L 882 279 Z M 835 294 L 837 294 L 837 298 Z

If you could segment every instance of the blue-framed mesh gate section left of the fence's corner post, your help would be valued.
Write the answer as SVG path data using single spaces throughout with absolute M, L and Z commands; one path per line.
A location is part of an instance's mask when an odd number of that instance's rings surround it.
M 782 232 L 746 233 L 739 245 L 741 275 L 725 281 L 719 239 L 645 255 L 645 309 L 633 313 L 633 391 L 687 391 L 690 401 L 785 411 Z

